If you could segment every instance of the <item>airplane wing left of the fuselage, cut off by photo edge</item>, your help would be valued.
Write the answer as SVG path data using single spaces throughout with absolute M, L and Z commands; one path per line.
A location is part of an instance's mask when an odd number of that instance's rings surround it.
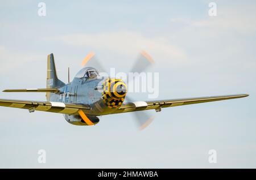
M 67 104 L 63 102 L 49 101 L 21 101 L 21 100 L 4 100 L 0 99 L 0 106 L 9 108 L 28 109 L 30 112 L 35 110 L 61 114 L 75 114 L 79 110 L 90 110 L 90 105 L 85 104 Z

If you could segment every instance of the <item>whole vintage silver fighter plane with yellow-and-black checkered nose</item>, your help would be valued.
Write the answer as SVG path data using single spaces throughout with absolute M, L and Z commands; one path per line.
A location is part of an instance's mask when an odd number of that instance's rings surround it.
M 82 68 L 72 82 L 63 83 L 57 78 L 53 54 L 49 54 L 47 59 L 47 88 L 7 89 L 3 92 L 46 92 L 47 101 L 0 99 L 0 106 L 27 109 L 30 113 L 38 110 L 64 114 L 67 122 L 78 126 L 96 125 L 100 122 L 98 117 L 102 115 L 141 112 L 151 109 L 160 112 L 162 108 L 249 96 L 241 94 L 125 102 L 126 83 L 122 79 L 100 76 L 96 68 L 93 67 Z M 147 119 L 141 124 L 141 128 L 148 126 L 150 122 L 152 119 Z

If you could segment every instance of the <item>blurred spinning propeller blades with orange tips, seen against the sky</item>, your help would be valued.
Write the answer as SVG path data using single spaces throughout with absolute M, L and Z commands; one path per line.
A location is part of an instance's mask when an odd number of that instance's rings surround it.
M 88 55 L 86 55 L 86 57 L 81 63 L 82 67 L 85 67 L 86 65 L 88 65 L 88 62 L 90 62 L 89 63 L 90 66 L 97 68 L 99 72 L 107 72 L 105 71 L 105 68 L 102 67 L 102 63 L 98 61 L 98 58 L 96 57 L 94 52 L 90 52 Z M 135 80 L 135 78 L 138 78 L 138 75 L 141 74 L 141 72 L 144 72 L 148 67 L 154 64 L 155 64 L 154 59 L 152 59 L 152 57 L 147 52 L 142 50 L 142 52 L 139 54 L 137 58 L 137 61 L 134 63 L 133 67 L 129 71 L 129 72 L 138 72 L 138 74 L 135 74 L 137 76 L 134 76 L 133 79 L 127 79 L 127 85 L 131 83 L 129 81 L 133 81 Z M 134 102 L 132 98 L 129 97 L 129 94 L 126 95 L 125 99 L 130 102 Z M 154 117 L 148 114 L 147 112 L 133 112 L 133 115 L 137 120 L 137 124 L 140 130 L 143 130 L 144 128 L 146 128 L 154 120 Z

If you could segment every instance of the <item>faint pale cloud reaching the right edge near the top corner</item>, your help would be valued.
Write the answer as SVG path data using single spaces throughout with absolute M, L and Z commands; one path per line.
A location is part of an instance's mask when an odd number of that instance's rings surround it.
M 217 4 L 218 5 L 218 4 Z M 256 32 L 256 9 L 255 7 L 242 6 L 217 6 L 217 16 L 205 16 L 203 19 L 171 18 L 172 23 L 182 23 L 191 27 L 212 29 L 211 35 L 217 32 L 236 31 L 243 35 Z M 234 8 L 236 7 L 236 8 Z

